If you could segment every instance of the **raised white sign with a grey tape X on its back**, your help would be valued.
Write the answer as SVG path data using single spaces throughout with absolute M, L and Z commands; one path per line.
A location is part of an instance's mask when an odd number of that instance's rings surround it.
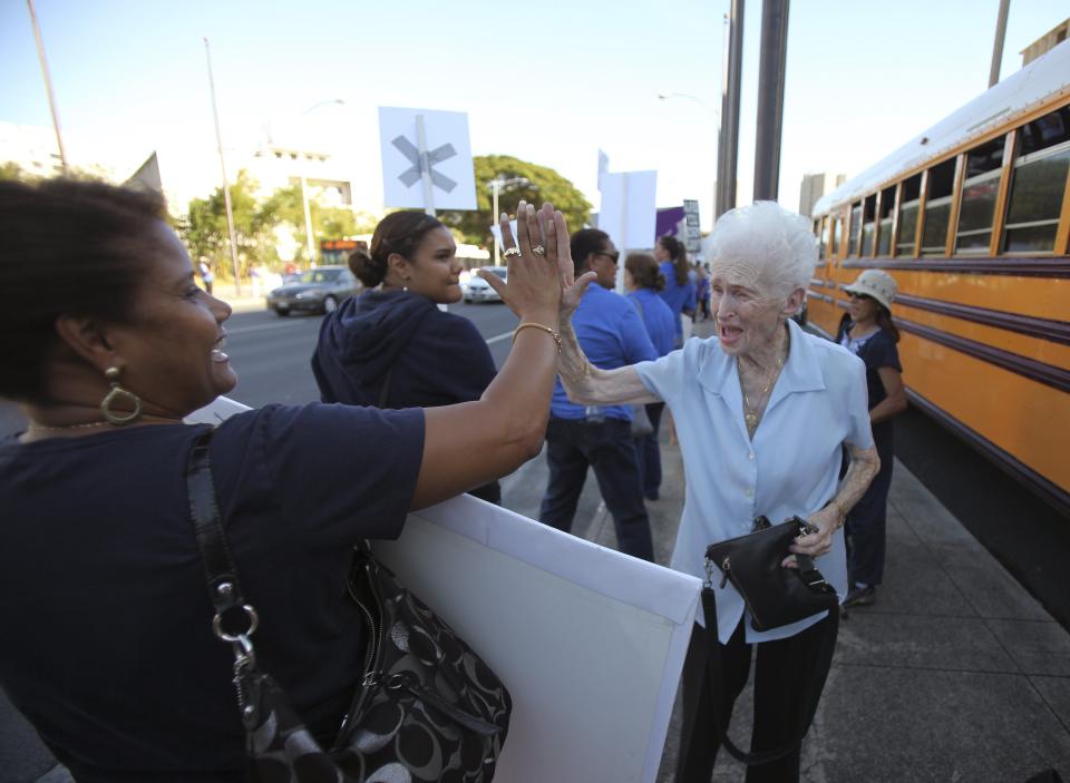
M 468 115 L 463 111 L 380 106 L 379 143 L 382 150 L 382 200 L 386 206 L 476 208 L 476 175 L 468 140 Z M 425 198 L 425 170 L 430 178 L 427 188 L 430 204 Z

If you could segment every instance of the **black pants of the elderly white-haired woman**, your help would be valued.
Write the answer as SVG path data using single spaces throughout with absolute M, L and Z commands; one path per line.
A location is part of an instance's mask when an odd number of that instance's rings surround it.
M 713 725 L 713 709 L 720 715 L 722 726 L 728 726 L 736 698 L 742 693 L 750 674 L 751 648 L 757 648 L 755 663 L 755 726 L 750 737 L 751 751 L 768 751 L 787 745 L 797 734 L 799 721 L 809 706 L 805 702 L 811 692 L 813 681 L 824 683 L 826 672 L 818 672 L 818 654 L 827 619 L 811 625 L 795 636 L 776 642 L 747 644 L 743 623 L 721 645 L 721 682 L 716 683 L 719 698 L 711 695 L 707 676 L 706 629 L 696 626 L 691 635 L 688 657 L 683 663 L 683 742 L 677 761 L 677 783 L 710 783 L 713 762 L 720 748 L 720 740 Z M 687 741 L 688 727 L 691 740 Z M 739 732 L 729 732 L 738 740 Z M 747 767 L 747 783 L 797 783 L 799 780 L 800 752 L 784 758 Z

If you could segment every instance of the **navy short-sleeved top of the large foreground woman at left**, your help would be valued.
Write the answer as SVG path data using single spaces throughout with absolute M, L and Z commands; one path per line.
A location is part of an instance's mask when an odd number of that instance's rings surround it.
M 183 477 L 202 429 L 0 441 L 0 685 L 79 783 L 244 780 Z M 240 413 L 212 439 L 257 657 L 313 731 L 337 731 L 360 676 L 352 546 L 401 532 L 422 451 L 419 410 L 319 403 Z

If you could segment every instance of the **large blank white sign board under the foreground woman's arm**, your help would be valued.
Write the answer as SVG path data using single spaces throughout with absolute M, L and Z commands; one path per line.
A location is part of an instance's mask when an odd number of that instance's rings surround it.
M 218 423 L 220 398 L 187 418 Z M 503 783 L 654 783 L 701 581 L 470 496 L 376 554 L 513 695 Z

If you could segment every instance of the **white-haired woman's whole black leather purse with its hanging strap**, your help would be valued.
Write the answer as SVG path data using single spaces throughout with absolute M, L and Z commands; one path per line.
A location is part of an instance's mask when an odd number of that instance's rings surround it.
M 839 632 L 839 598 L 836 589 L 825 581 L 821 572 L 814 567 L 814 558 L 796 555 L 798 568 L 785 568 L 780 564 L 790 552 L 791 541 L 807 531 L 802 519 L 792 517 L 781 525 L 769 525 L 766 517 L 755 520 L 755 532 L 727 541 L 711 544 L 706 550 L 707 579 L 702 587 L 702 610 L 706 616 L 706 630 L 702 634 L 707 667 L 707 683 L 714 705 L 719 704 L 721 682 L 721 645 L 717 626 L 717 595 L 713 590 L 713 568 L 721 570 L 720 586 L 728 580 L 739 591 L 750 611 L 751 625 L 756 630 L 768 630 L 818 611 L 828 611 L 828 617 L 817 652 L 817 672 L 806 681 L 800 715 L 795 716 L 796 730 L 791 738 L 781 747 L 748 753 L 741 750 L 728 731 L 721 725 L 718 708 L 711 711 L 713 727 L 721 745 L 738 761 L 747 765 L 767 764 L 794 753 L 802 744 L 802 737 L 814 722 L 817 704 L 825 687 L 825 679 L 836 650 L 836 635 Z M 694 741 L 694 726 L 684 726 L 681 738 L 682 755 Z

